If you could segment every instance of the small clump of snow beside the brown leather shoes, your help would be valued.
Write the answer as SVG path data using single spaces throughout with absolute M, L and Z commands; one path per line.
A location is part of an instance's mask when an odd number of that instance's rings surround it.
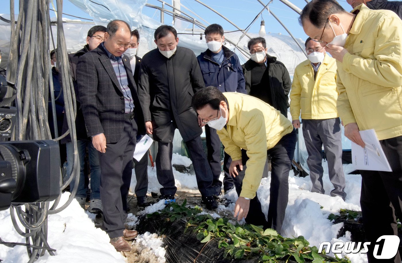
M 140 257 L 147 257 L 147 262 L 166 262 L 165 254 L 166 250 L 162 247 L 163 241 L 162 237 L 158 234 L 151 234 L 150 232 L 145 232 L 142 235 L 138 235 L 133 242 L 133 249 L 131 251 L 141 254 Z M 140 261 L 142 262 L 142 261 Z

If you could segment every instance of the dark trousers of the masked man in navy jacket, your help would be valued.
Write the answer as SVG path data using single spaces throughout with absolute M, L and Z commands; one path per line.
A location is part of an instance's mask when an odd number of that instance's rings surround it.
M 216 129 L 213 129 L 209 127 L 208 125 L 205 125 L 205 135 L 207 139 L 207 159 L 209 162 L 209 166 L 211 167 L 212 175 L 213 175 L 213 185 L 219 185 L 222 186 L 222 182 L 219 180 L 219 177 L 221 175 L 221 140 L 219 140 L 219 136 L 216 133 Z M 227 166 L 229 162 L 232 162 L 232 158 L 225 152 L 224 153 L 224 167 Z M 224 177 L 224 188 L 226 186 L 229 186 L 233 184 L 233 179 L 229 175 L 229 173 L 226 172 L 226 169 L 224 169 L 225 177 Z

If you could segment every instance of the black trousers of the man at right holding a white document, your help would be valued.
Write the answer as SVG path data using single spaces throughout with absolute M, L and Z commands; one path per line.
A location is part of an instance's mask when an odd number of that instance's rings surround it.
M 396 216 L 402 220 L 402 136 L 380 141 L 392 172 L 361 170 L 360 205 L 367 241 L 371 242 L 367 258 L 377 262 L 373 249 L 377 238 L 397 235 Z M 400 263 L 400 253 L 381 262 Z

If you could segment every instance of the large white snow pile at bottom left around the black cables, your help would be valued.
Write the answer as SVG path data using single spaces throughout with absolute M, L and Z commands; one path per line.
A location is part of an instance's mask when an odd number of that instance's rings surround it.
M 60 204 L 64 204 L 69 195 L 70 193 L 64 193 Z M 4 241 L 25 243 L 25 238 L 12 225 L 9 210 L 0 211 L 0 222 L 0 237 Z M 75 199 L 62 212 L 49 215 L 47 236 L 49 246 L 57 250 L 56 256 L 45 253 L 39 258 L 39 262 L 125 262 L 125 257 L 109 244 L 109 236 L 94 226 Z M 26 247 L 10 248 L 4 245 L 0 245 L 0 259 L 7 263 L 29 260 Z

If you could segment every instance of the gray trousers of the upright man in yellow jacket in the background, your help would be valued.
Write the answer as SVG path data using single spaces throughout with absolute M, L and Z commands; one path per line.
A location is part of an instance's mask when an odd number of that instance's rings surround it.
M 340 119 L 303 119 L 303 137 L 308 152 L 307 165 L 310 169 L 311 189 L 324 194 L 322 184 L 322 145 L 328 160 L 329 179 L 334 185 L 331 196 L 345 199 L 345 174 L 342 167 L 342 142 Z

